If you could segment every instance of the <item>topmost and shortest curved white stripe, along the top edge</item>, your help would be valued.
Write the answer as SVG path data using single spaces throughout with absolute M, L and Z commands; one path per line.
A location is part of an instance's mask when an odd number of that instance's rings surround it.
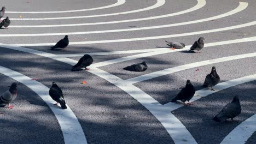
M 6 14 L 53 14 L 53 13 L 74 13 L 79 11 L 90 11 L 98 9 L 107 9 L 117 7 L 118 5 L 124 4 L 125 0 L 117 0 L 117 3 L 106 5 L 104 7 L 90 8 L 90 9 L 78 9 L 78 10 L 64 10 L 64 11 L 5 11 Z

